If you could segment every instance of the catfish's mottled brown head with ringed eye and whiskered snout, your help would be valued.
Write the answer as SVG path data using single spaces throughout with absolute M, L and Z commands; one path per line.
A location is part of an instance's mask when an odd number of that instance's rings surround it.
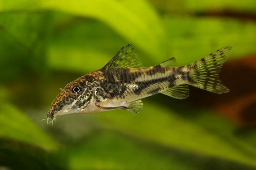
M 71 113 L 86 113 L 86 108 L 92 100 L 92 90 L 89 86 L 77 79 L 61 89 L 58 96 L 53 100 L 47 113 L 47 122 L 55 120 L 57 115 Z

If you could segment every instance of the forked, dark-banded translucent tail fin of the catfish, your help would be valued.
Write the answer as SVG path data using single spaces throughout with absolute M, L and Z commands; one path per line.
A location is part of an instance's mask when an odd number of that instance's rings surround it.
M 229 92 L 228 88 L 221 83 L 219 73 L 231 48 L 231 46 L 220 48 L 201 60 L 189 64 L 188 67 L 191 69 L 189 84 L 214 93 Z

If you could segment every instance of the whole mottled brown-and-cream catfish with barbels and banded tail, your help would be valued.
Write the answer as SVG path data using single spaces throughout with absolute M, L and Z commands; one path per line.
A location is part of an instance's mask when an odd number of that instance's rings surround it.
M 132 44 L 128 44 L 104 67 L 62 88 L 47 113 L 47 124 L 53 123 L 58 115 L 72 113 L 115 109 L 138 113 L 143 108 L 140 99 L 157 93 L 175 99 L 188 98 L 188 85 L 218 94 L 229 92 L 220 81 L 219 73 L 231 48 L 220 48 L 184 66 L 175 66 L 176 59 L 172 57 L 158 65 L 143 67 L 138 56 L 132 53 Z

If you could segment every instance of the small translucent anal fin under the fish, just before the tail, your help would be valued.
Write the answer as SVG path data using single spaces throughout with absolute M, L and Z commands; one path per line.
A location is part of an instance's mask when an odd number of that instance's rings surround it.
M 166 89 L 160 93 L 173 97 L 175 99 L 187 99 L 189 96 L 189 89 L 188 89 L 188 85 L 183 84 L 183 85 L 173 86 L 172 88 Z

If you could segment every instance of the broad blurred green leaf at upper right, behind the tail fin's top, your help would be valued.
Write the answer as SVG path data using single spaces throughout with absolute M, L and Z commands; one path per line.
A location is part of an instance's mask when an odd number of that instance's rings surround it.
M 228 60 L 256 53 L 256 24 L 228 18 L 165 18 L 171 56 L 189 64 L 215 50 L 233 46 Z

